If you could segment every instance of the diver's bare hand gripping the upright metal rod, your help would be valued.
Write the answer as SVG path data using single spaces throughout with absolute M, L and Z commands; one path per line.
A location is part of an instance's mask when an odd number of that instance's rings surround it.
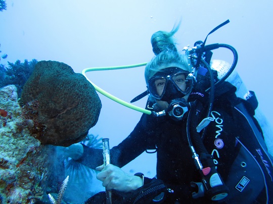
M 139 176 L 125 173 L 119 167 L 108 164 L 105 167 L 99 166 L 96 170 L 101 171 L 97 174 L 97 179 L 103 181 L 106 190 L 118 190 L 122 192 L 133 191 L 143 185 L 143 180 Z

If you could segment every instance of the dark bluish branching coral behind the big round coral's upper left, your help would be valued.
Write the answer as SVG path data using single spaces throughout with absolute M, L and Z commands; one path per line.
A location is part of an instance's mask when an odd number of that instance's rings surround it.
M 23 86 L 32 74 L 36 59 L 32 59 L 30 62 L 25 59 L 23 63 L 17 60 L 15 63 L 9 63 L 9 67 L 5 67 L 3 64 L 0 65 L 0 88 L 14 84 L 17 87 L 18 98 L 21 96 Z

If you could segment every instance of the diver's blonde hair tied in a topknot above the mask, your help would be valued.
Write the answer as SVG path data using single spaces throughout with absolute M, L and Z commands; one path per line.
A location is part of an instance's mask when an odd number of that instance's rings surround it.
M 148 84 L 149 79 L 157 72 L 163 70 L 164 64 L 177 63 L 185 67 L 186 71 L 190 72 L 188 56 L 177 52 L 173 35 L 177 32 L 180 23 L 174 26 L 170 32 L 158 31 L 151 37 L 153 52 L 155 56 L 147 63 L 145 68 L 145 80 Z

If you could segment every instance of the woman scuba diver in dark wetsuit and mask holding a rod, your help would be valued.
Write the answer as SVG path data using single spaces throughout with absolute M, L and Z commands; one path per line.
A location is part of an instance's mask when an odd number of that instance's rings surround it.
M 244 100 L 231 83 L 218 83 L 217 71 L 207 68 L 210 51 L 179 53 L 178 28 L 152 35 L 148 91 L 137 99 L 149 94 L 153 114 L 143 114 L 110 150 L 111 164 L 102 165 L 103 150 L 83 144 L 70 146 L 68 157 L 100 171 L 97 178 L 112 193 L 108 203 L 273 203 L 273 165 L 253 117 L 254 93 Z M 145 151 L 157 154 L 155 178 L 120 169 Z M 108 198 L 100 192 L 85 203 Z

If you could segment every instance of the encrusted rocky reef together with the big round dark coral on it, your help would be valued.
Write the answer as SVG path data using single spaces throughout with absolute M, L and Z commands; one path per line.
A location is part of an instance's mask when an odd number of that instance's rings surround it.
M 81 74 L 57 61 L 38 62 L 19 101 L 17 91 L 0 88 L 0 204 L 50 203 L 48 193 L 56 196 L 65 179 L 57 146 L 86 138 L 101 101 Z

